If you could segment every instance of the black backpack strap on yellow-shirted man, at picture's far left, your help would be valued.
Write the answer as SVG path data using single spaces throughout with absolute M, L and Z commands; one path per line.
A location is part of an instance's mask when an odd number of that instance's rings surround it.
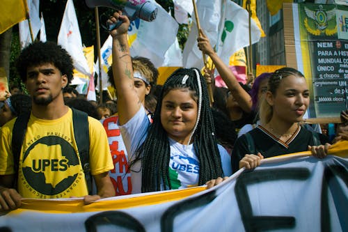
M 21 155 L 22 144 L 24 141 L 26 127 L 28 126 L 31 112 L 23 113 L 17 116 L 12 130 L 12 153 L 13 166 L 15 169 L 15 185 L 17 185 L 19 172 L 19 157 Z

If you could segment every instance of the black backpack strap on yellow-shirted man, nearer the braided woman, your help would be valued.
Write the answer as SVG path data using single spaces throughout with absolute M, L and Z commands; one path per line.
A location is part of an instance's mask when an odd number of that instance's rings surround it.
M 92 194 L 92 177 L 89 164 L 89 127 L 88 114 L 72 108 L 72 124 L 74 126 L 74 137 L 79 150 L 82 169 L 86 178 L 88 194 Z

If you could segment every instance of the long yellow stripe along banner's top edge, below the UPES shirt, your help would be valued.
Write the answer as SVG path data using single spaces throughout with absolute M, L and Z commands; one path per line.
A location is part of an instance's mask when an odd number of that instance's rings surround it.
M 141 196 L 129 195 L 129 198 L 108 198 L 107 201 L 96 201 L 90 205 L 84 205 L 84 201 L 77 200 L 48 200 L 48 199 L 23 199 L 21 208 L 10 213 L 17 214 L 25 210 L 36 210 L 49 213 L 72 213 L 72 212 L 97 212 L 105 210 L 120 210 L 139 206 L 152 206 L 170 201 L 178 201 L 188 196 L 205 190 L 204 186 L 190 187 L 184 190 L 170 190 L 141 194 Z

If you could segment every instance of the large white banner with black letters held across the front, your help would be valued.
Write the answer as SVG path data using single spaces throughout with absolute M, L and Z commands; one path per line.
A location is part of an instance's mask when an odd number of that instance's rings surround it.
M 264 160 L 210 190 L 29 200 L 0 231 L 348 231 L 348 160 L 329 155 Z

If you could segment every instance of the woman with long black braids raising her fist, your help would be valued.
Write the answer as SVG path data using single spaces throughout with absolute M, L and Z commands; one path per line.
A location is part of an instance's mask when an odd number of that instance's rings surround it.
M 129 19 L 120 12 L 111 24 L 122 21 L 113 37 L 113 77 L 118 93 L 118 124 L 132 172 L 132 193 L 173 190 L 218 184 L 230 176 L 230 156 L 216 143 L 207 86 L 195 68 L 180 68 L 164 84 L 150 124 L 134 91 L 127 42 Z

